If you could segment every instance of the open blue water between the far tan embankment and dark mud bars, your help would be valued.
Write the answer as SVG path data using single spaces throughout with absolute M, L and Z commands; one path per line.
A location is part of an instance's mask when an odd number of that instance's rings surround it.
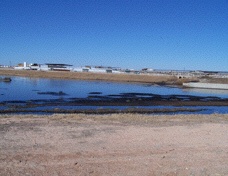
M 90 92 L 101 92 L 102 95 L 136 92 L 161 95 L 178 94 L 228 98 L 228 90 L 180 89 L 144 84 L 12 77 L 12 82 L 0 83 L 0 100 L 55 99 L 56 96 L 41 95 L 38 94 L 38 92 L 60 91 L 66 93 L 67 98 L 86 98 Z

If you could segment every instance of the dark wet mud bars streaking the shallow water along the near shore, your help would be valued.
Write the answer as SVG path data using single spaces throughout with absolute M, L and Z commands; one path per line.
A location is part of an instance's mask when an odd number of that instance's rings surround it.
M 150 93 L 120 93 L 102 95 L 102 92 L 90 92 L 86 98 L 68 98 L 67 94 L 60 92 L 37 92 L 42 95 L 59 96 L 55 99 L 36 99 L 27 101 L 0 102 L 0 113 L 169 113 L 169 112 L 196 112 L 201 111 L 200 106 L 228 106 L 227 98 L 216 96 L 192 95 L 159 95 Z M 85 109 L 80 107 L 96 106 L 98 109 Z M 125 109 L 111 107 L 132 107 Z M 185 106 L 185 108 L 136 108 L 135 106 Z M 186 106 L 198 107 L 195 109 Z M 1 108 L 3 107 L 3 108 Z M 61 108 L 63 107 L 63 108 Z M 65 107 L 71 107 L 66 109 Z M 73 107 L 73 108 L 72 108 Z M 74 108 L 75 107 L 75 108 Z M 107 107 L 107 108 L 105 108 Z M 65 109 L 64 109 L 65 108 Z

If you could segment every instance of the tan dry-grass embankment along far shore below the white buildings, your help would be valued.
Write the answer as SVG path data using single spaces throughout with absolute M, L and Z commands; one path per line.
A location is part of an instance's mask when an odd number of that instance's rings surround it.
M 54 78 L 54 79 L 135 82 L 135 83 L 164 84 L 164 85 L 166 85 L 166 84 L 181 85 L 182 82 L 189 82 L 192 80 L 192 79 L 180 80 L 175 76 L 110 74 L 110 73 L 81 73 L 81 72 L 61 72 L 61 71 L 44 72 L 44 71 L 13 70 L 13 69 L 0 69 L 0 75 L 35 77 L 35 78 Z

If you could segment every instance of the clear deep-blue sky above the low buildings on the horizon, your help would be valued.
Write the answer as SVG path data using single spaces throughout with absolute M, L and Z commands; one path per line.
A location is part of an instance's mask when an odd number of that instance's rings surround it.
M 0 64 L 228 71 L 228 0 L 1 0 Z

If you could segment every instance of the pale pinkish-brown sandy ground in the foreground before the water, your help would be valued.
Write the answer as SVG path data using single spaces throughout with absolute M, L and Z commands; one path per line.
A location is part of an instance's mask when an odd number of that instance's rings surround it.
M 228 175 L 228 114 L 1 115 L 0 175 Z

